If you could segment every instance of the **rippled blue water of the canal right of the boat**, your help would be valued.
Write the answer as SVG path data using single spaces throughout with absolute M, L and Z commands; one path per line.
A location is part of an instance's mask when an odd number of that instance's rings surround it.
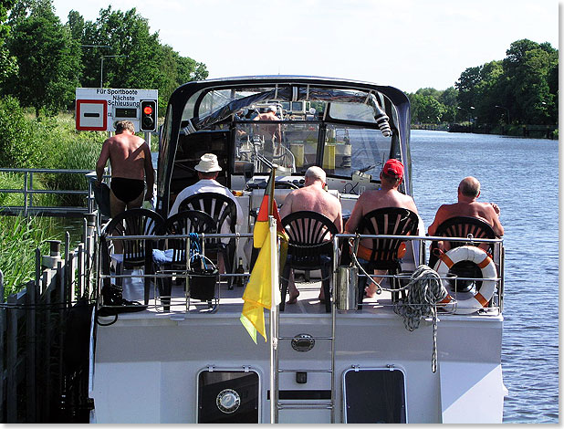
M 559 422 L 559 144 L 412 131 L 413 194 L 425 225 L 454 203 L 465 176 L 482 183 L 505 228 L 504 423 Z M 440 329 L 440 327 L 439 327 Z

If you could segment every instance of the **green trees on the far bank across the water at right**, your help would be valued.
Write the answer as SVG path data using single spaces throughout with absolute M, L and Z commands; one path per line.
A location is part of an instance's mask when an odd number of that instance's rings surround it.
M 408 94 L 412 121 L 557 123 L 559 51 L 548 43 L 522 39 L 506 53 L 503 60 L 466 68 L 454 88 Z

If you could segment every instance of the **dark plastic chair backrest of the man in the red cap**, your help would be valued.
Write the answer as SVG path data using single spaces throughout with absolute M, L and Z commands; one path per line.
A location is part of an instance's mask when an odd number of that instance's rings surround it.
M 367 235 L 414 235 L 419 226 L 419 216 L 401 207 L 383 207 L 365 214 L 360 219 L 357 232 Z M 397 264 L 399 238 L 373 238 L 370 263 L 374 268 L 387 268 Z

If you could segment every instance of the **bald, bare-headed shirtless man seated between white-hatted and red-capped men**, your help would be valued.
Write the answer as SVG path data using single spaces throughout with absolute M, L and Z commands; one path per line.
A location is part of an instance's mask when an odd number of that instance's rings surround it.
M 317 212 L 324 214 L 333 221 L 340 233 L 343 227 L 341 206 L 339 199 L 325 190 L 325 182 L 327 180 L 325 172 L 319 167 L 312 166 L 308 168 L 304 178 L 305 186 L 287 195 L 284 204 L 280 208 L 280 218 L 283 219 L 288 214 L 304 210 Z M 287 304 L 294 304 L 298 300 L 299 291 L 294 284 L 293 274 L 289 278 L 288 290 L 290 298 Z M 325 300 L 323 288 L 319 292 L 319 300 Z

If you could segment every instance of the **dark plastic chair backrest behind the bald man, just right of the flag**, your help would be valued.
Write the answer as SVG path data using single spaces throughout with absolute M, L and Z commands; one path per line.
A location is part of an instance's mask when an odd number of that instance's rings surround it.
M 300 211 L 282 219 L 288 235 L 287 254 L 292 266 L 318 267 L 321 256 L 333 255 L 337 226 L 325 215 Z

